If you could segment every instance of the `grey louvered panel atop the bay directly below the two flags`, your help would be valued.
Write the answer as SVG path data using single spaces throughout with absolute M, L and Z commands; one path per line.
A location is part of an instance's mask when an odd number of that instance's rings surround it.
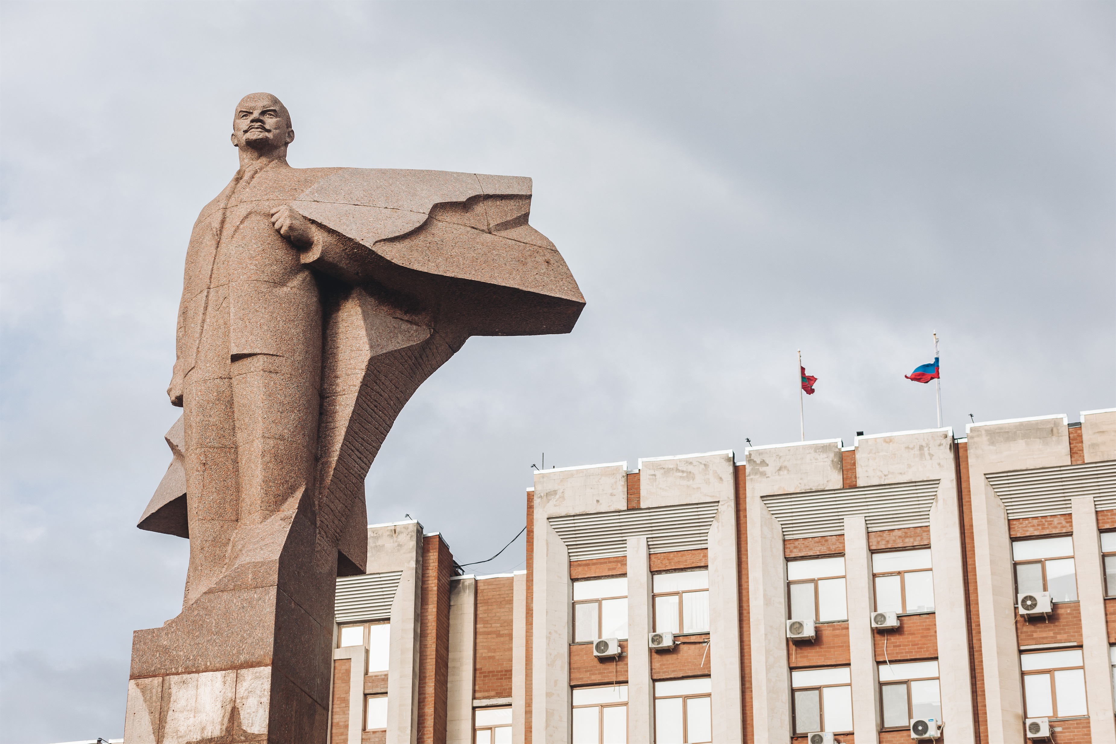
M 927 526 L 939 481 L 865 485 L 761 496 L 785 540 L 845 532 L 845 518 L 864 515 L 868 532 Z

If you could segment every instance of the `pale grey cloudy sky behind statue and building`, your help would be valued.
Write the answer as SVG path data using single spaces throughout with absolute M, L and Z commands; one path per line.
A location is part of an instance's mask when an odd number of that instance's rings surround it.
M 0 6 L 0 744 L 121 736 L 132 631 L 187 543 L 135 528 L 170 460 L 190 228 L 232 108 L 296 167 L 527 175 L 588 302 L 474 338 L 400 416 L 373 522 L 461 561 L 531 464 L 1116 405 L 1113 3 Z M 522 539 L 479 572 L 523 566 Z

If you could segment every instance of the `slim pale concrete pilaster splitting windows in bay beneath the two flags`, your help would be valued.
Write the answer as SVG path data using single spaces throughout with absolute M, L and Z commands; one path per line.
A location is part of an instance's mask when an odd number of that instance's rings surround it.
M 845 518 L 845 587 L 848 601 L 849 673 L 853 676 L 853 733 L 856 741 L 879 742 L 879 678 L 869 615 L 872 555 L 864 516 Z

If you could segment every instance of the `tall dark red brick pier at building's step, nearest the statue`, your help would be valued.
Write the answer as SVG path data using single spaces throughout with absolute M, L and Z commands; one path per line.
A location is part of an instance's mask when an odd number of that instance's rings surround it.
M 445 744 L 453 555 L 436 534 L 423 538 L 422 552 L 417 737 L 421 744 Z

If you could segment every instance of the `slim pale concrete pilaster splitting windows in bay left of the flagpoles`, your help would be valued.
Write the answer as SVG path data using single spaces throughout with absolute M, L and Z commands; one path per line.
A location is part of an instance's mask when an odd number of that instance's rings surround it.
M 651 683 L 651 567 L 647 538 L 627 540 L 628 744 L 652 744 L 655 690 Z

